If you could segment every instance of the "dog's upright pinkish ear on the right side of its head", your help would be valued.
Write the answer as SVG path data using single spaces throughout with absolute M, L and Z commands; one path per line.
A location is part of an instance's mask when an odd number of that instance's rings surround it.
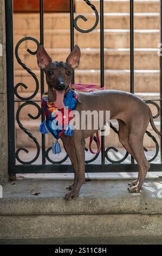
M 79 46 L 75 45 L 73 51 L 69 54 L 66 59 L 66 63 L 73 69 L 76 69 L 79 66 L 80 61 L 80 48 Z

